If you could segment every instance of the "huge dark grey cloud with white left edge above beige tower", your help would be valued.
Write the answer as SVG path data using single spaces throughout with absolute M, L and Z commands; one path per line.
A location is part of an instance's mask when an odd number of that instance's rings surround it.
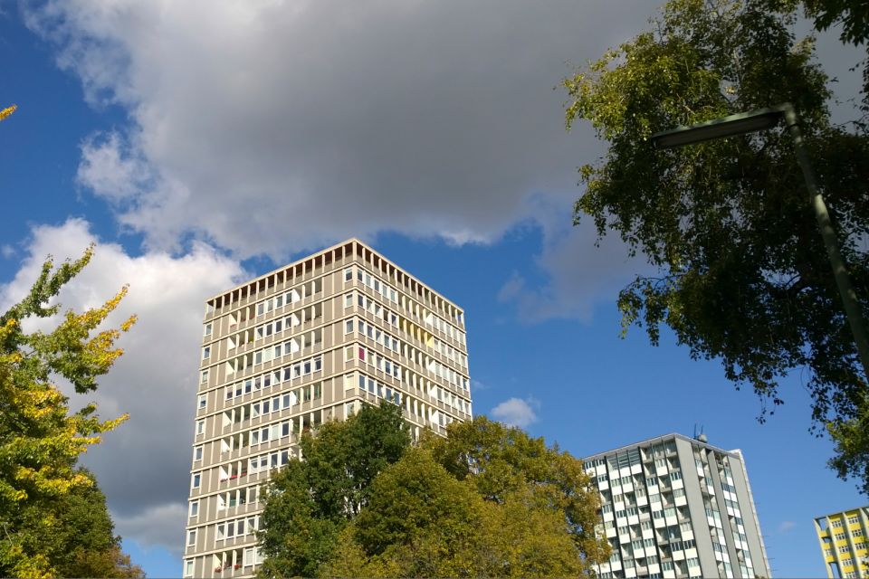
M 597 156 L 559 80 L 658 0 L 48 0 L 33 30 L 129 124 L 80 181 L 149 246 L 276 259 L 391 230 L 487 242 Z M 99 139 L 98 139 L 99 140 Z

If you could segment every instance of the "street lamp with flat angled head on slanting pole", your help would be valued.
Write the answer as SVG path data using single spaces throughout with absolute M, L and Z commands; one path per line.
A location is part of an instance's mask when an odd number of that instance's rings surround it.
M 833 229 L 833 223 L 830 221 L 830 214 L 826 211 L 824 198 L 817 189 L 815 172 L 808 162 L 806 147 L 803 144 L 803 135 L 797 124 L 797 112 L 794 110 L 794 107 L 790 103 L 784 103 L 777 107 L 752 110 L 724 117 L 723 119 L 715 119 L 692 125 L 691 127 L 673 128 L 672 130 L 654 134 L 652 136 L 652 143 L 655 148 L 684 147 L 717 138 L 733 137 L 735 135 L 744 135 L 758 130 L 773 128 L 778 125 L 781 119 L 785 119 L 790 137 L 794 140 L 797 163 L 799 163 L 799 167 L 803 171 L 803 177 L 806 179 L 806 187 L 808 195 L 811 198 L 812 208 L 815 210 L 817 226 L 821 230 L 821 237 L 824 239 L 824 245 L 826 246 L 826 255 L 830 260 L 830 265 L 833 266 L 833 276 L 836 278 L 836 286 L 839 289 L 839 295 L 845 307 L 845 316 L 848 318 L 848 325 L 851 327 L 851 333 L 854 335 L 857 354 L 860 356 L 860 363 L 863 365 L 864 376 L 869 380 L 869 338 L 866 337 L 863 314 L 860 311 L 860 305 L 857 303 L 857 296 L 851 285 L 847 268 L 845 268 L 845 260 L 842 259 L 842 255 L 839 253 L 836 231 Z

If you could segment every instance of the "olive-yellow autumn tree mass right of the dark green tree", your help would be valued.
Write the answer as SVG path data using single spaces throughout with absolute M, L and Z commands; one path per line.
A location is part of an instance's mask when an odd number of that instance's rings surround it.
M 371 489 L 320 576 L 589 576 L 609 556 L 582 463 L 484 417 L 425 438 Z

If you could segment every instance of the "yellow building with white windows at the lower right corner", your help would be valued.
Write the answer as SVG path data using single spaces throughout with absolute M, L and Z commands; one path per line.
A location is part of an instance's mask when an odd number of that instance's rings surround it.
M 827 577 L 869 577 L 869 507 L 815 519 Z

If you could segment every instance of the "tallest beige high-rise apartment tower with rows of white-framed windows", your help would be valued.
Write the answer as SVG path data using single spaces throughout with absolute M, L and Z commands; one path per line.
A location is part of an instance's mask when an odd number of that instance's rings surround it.
M 185 577 L 248 577 L 260 487 L 301 432 L 396 403 L 415 435 L 472 416 L 462 308 L 351 239 L 205 302 Z

